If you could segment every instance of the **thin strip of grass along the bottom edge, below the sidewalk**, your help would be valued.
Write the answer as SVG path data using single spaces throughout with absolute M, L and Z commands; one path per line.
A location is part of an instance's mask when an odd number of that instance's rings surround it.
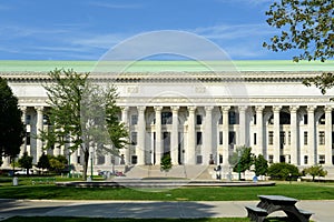
M 66 216 L 14 216 L 4 222 L 155 222 L 157 219 L 94 219 L 94 218 L 66 218 Z M 248 222 L 248 218 L 213 218 L 213 219 L 159 219 L 159 222 Z M 288 221 L 286 218 L 269 218 L 266 222 Z

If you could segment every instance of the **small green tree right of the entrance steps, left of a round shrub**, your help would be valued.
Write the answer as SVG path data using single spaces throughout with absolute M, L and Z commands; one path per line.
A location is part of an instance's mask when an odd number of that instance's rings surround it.
M 240 154 L 240 157 L 239 157 Z M 233 171 L 238 172 L 238 161 L 239 161 L 239 170 L 240 172 L 245 172 L 246 170 L 249 170 L 253 165 L 253 153 L 252 148 L 248 147 L 238 147 L 236 151 L 233 153 L 233 155 L 229 159 L 229 163 L 234 163 Z

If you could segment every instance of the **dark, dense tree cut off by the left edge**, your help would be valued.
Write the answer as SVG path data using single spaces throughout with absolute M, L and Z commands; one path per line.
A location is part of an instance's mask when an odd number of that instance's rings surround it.
M 10 157 L 12 162 L 20 153 L 24 138 L 21 115 L 17 97 L 13 95 L 7 81 L 0 77 L 0 160 L 2 157 Z

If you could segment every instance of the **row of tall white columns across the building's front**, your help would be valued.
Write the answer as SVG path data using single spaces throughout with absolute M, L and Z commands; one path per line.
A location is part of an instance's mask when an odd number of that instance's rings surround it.
M 45 152 L 42 141 L 35 135 L 47 124 L 46 109 L 21 107 L 27 128 L 21 153 L 28 151 L 35 163 Z M 289 115 L 288 124 L 279 120 L 285 117 L 283 112 Z M 174 165 L 228 165 L 236 147 L 247 145 L 269 162 L 333 165 L 332 112 L 331 105 L 297 104 L 122 107 L 120 119 L 136 142 L 121 150 L 115 163 L 160 164 L 163 155 L 169 153 Z M 69 155 L 66 148 L 47 152 Z M 70 158 L 80 164 L 82 157 L 76 151 Z M 111 164 L 111 155 L 96 154 L 95 164 Z

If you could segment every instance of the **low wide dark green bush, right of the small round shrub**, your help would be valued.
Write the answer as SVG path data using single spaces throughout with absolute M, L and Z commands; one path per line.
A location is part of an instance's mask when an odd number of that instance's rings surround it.
M 268 175 L 273 180 L 286 180 L 288 178 L 299 176 L 299 170 L 289 163 L 273 163 L 268 168 Z

